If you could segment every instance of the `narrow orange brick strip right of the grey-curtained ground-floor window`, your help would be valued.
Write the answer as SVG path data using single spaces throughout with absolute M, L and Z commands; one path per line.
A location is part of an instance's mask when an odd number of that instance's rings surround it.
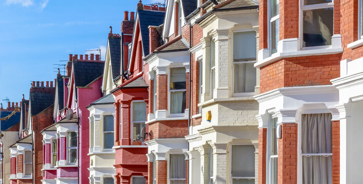
M 332 121 L 333 135 L 333 183 L 339 184 L 340 181 L 340 121 Z

